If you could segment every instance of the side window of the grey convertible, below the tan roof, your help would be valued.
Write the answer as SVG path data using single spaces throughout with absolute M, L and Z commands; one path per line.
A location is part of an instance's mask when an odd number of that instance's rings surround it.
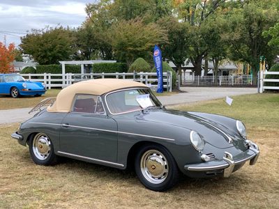
M 104 114 L 103 103 L 100 96 L 77 94 L 73 105 L 73 112 Z

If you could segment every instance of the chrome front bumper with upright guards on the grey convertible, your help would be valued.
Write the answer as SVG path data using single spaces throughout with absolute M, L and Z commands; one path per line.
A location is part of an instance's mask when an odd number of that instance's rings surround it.
M 259 148 L 257 144 L 250 141 L 249 148 L 240 155 L 232 157 L 232 154 L 225 152 L 223 160 L 213 160 L 209 162 L 203 162 L 200 164 L 186 164 L 184 169 L 186 171 L 220 171 L 224 170 L 224 177 L 229 177 L 234 171 L 234 166 L 242 164 L 250 160 L 250 165 L 257 162 L 259 157 Z

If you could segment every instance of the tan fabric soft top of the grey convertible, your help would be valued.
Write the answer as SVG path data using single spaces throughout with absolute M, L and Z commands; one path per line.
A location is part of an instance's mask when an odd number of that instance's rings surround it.
M 140 82 L 132 82 L 125 79 L 91 79 L 84 82 L 72 84 L 62 91 L 56 97 L 56 101 L 47 111 L 69 112 L 73 99 L 77 93 L 103 95 L 104 93 L 121 88 L 147 87 Z

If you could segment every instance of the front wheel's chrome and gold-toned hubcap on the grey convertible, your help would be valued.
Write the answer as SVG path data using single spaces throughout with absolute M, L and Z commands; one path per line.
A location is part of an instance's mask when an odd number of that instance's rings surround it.
M 163 183 L 169 173 L 167 159 L 158 150 L 148 150 L 142 155 L 140 169 L 144 178 L 153 184 Z

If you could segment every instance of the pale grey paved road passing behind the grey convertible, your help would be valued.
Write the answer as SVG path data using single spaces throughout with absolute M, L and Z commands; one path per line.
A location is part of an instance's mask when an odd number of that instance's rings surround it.
M 185 93 L 159 96 L 158 98 L 164 105 L 172 105 L 225 98 L 227 95 L 257 93 L 257 88 L 182 87 L 181 90 L 185 91 Z M 25 121 L 33 116 L 33 114 L 28 114 L 30 109 L 31 108 L 0 110 L 0 124 Z

